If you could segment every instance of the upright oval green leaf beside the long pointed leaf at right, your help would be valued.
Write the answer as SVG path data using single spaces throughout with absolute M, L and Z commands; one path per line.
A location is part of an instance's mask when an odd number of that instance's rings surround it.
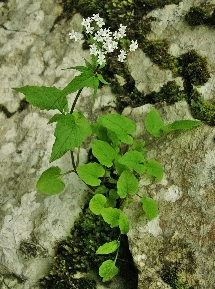
M 163 126 L 164 123 L 160 117 L 160 114 L 155 108 L 152 108 L 145 117 L 145 127 L 147 131 L 153 136 L 159 137 L 163 134 L 163 131 L 161 130 Z

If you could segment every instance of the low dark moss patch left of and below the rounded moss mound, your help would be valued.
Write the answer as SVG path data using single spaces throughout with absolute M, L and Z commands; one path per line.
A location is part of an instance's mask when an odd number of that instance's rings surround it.
M 168 81 L 159 92 L 153 91 L 151 94 L 145 96 L 148 103 L 157 103 L 166 101 L 167 104 L 173 104 L 175 102 L 186 100 L 187 95 L 184 90 L 180 89 L 180 86 L 176 82 Z

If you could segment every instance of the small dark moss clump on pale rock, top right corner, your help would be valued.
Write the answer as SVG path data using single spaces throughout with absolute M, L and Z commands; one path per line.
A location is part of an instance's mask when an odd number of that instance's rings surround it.
M 207 8 L 193 6 L 185 16 L 189 25 L 208 24 L 211 20 L 211 13 Z

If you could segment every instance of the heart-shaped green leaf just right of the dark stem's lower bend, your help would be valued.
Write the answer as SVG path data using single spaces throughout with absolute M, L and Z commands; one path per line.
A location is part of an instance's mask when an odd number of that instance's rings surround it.
M 103 177 L 104 175 L 104 168 L 101 164 L 89 163 L 84 164 L 82 166 L 78 166 L 76 168 L 78 176 L 87 184 L 91 186 L 99 186 L 101 180 L 98 179 L 99 177 Z

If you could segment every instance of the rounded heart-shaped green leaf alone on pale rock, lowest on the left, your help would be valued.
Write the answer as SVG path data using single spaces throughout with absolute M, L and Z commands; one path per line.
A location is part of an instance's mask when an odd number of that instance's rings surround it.
M 60 173 L 61 169 L 59 166 L 48 168 L 46 171 L 42 172 L 42 175 L 36 184 L 36 189 L 44 194 L 59 194 L 65 188 L 65 184 L 61 181 L 64 174 L 61 175 Z

